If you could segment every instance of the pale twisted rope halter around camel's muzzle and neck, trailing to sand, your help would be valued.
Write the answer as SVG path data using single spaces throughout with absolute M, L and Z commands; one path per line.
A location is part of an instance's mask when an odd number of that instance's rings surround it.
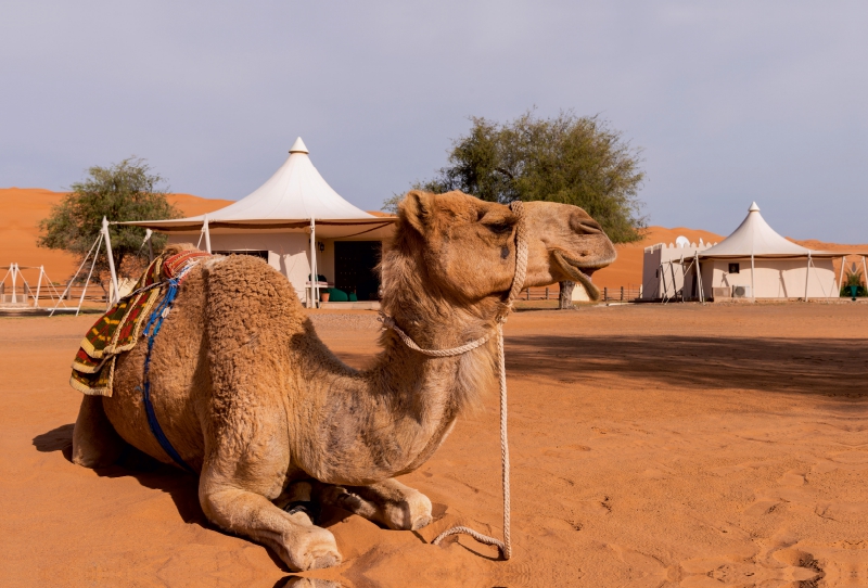
M 515 228 L 515 273 L 512 277 L 512 286 L 507 294 L 506 310 L 497 318 L 496 331 L 475 340 L 465 343 L 460 347 L 452 347 L 451 349 L 423 349 L 416 342 L 410 338 L 407 333 L 400 330 L 395 324 L 395 319 L 380 314 L 380 320 L 386 329 L 392 329 L 397 333 L 398 337 L 410 349 L 419 351 L 430 357 L 454 357 L 458 355 L 472 351 L 476 347 L 484 345 L 492 338 L 492 335 L 497 333 L 497 362 L 500 372 L 500 461 L 502 465 L 502 483 L 503 483 L 503 540 L 495 539 L 488 535 L 483 535 L 470 527 L 457 526 L 444 531 L 432 541 L 433 545 L 438 545 L 445 537 L 449 535 L 457 535 L 463 533 L 470 535 L 481 544 L 497 546 L 505 560 L 512 557 L 512 541 L 510 539 L 510 491 L 509 491 L 509 443 L 507 439 L 507 367 L 503 359 L 503 323 L 507 321 L 507 315 L 512 309 L 512 301 L 515 298 L 524 285 L 524 278 L 527 273 L 527 226 L 525 222 L 524 208 L 521 201 L 515 201 L 509 205 L 510 209 L 519 217 L 519 222 Z

